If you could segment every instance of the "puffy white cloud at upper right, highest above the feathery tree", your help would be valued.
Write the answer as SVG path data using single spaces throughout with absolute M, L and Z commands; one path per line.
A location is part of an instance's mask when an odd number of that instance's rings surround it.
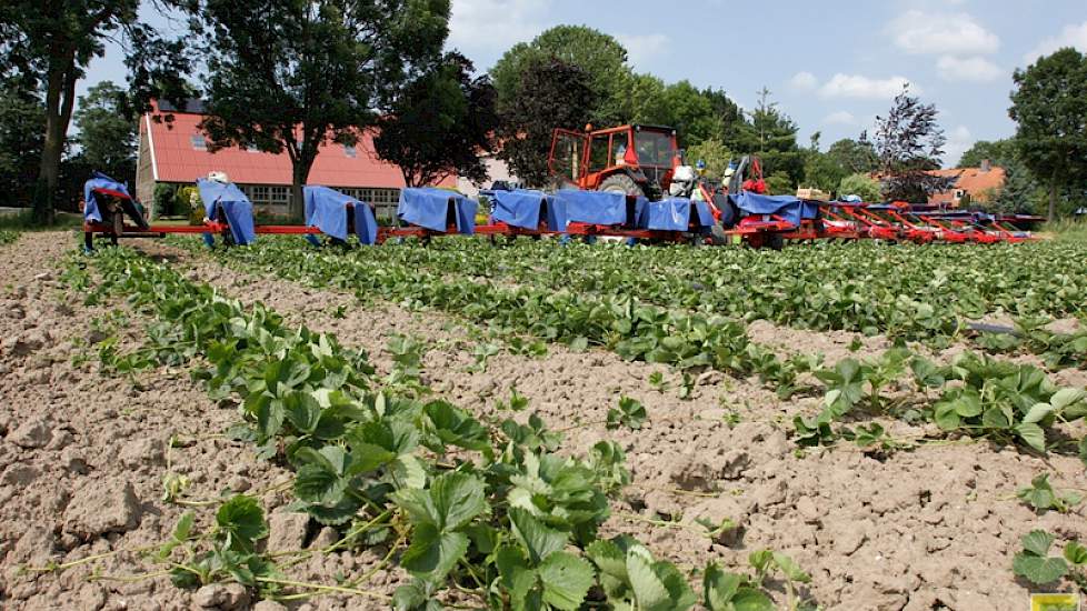
M 895 44 L 911 54 L 995 53 L 1000 39 L 969 13 L 906 11 L 888 26 Z

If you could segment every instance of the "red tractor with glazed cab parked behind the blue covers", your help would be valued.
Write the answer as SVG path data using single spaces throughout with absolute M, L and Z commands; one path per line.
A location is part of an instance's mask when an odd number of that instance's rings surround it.
M 620 126 L 586 131 L 557 129 L 548 169 L 562 183 L 586 191 L 618 191 L 660 199 L 680 163 L 676 130 Z

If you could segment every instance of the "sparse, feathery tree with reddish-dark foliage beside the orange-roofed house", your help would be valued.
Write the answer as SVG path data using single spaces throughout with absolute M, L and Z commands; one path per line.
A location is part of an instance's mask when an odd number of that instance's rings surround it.
M 872 146 L 884 197 L 889 200 L 928 201 L 928 196 L 947 189 L 950 179 L 929 172 L 940 167 L 944 130 L 936 122 L 935 104 L 923 104 L 909 94 L 909 84 L 895 97 L 887 117 L 876 117 Z M 868 139 L 861 134 L 860 144 Z

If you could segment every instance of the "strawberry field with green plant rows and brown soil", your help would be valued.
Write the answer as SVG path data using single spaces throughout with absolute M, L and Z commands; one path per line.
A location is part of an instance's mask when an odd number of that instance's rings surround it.
M 1084 242 L 0 242 L 6 608 L 1087 589 Z

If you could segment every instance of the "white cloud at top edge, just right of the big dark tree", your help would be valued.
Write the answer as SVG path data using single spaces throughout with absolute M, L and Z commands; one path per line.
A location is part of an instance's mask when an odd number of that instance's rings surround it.
M 505 51 L 547 29 L 551 0 L 457 0 L 449 17 L 450 49 Z

